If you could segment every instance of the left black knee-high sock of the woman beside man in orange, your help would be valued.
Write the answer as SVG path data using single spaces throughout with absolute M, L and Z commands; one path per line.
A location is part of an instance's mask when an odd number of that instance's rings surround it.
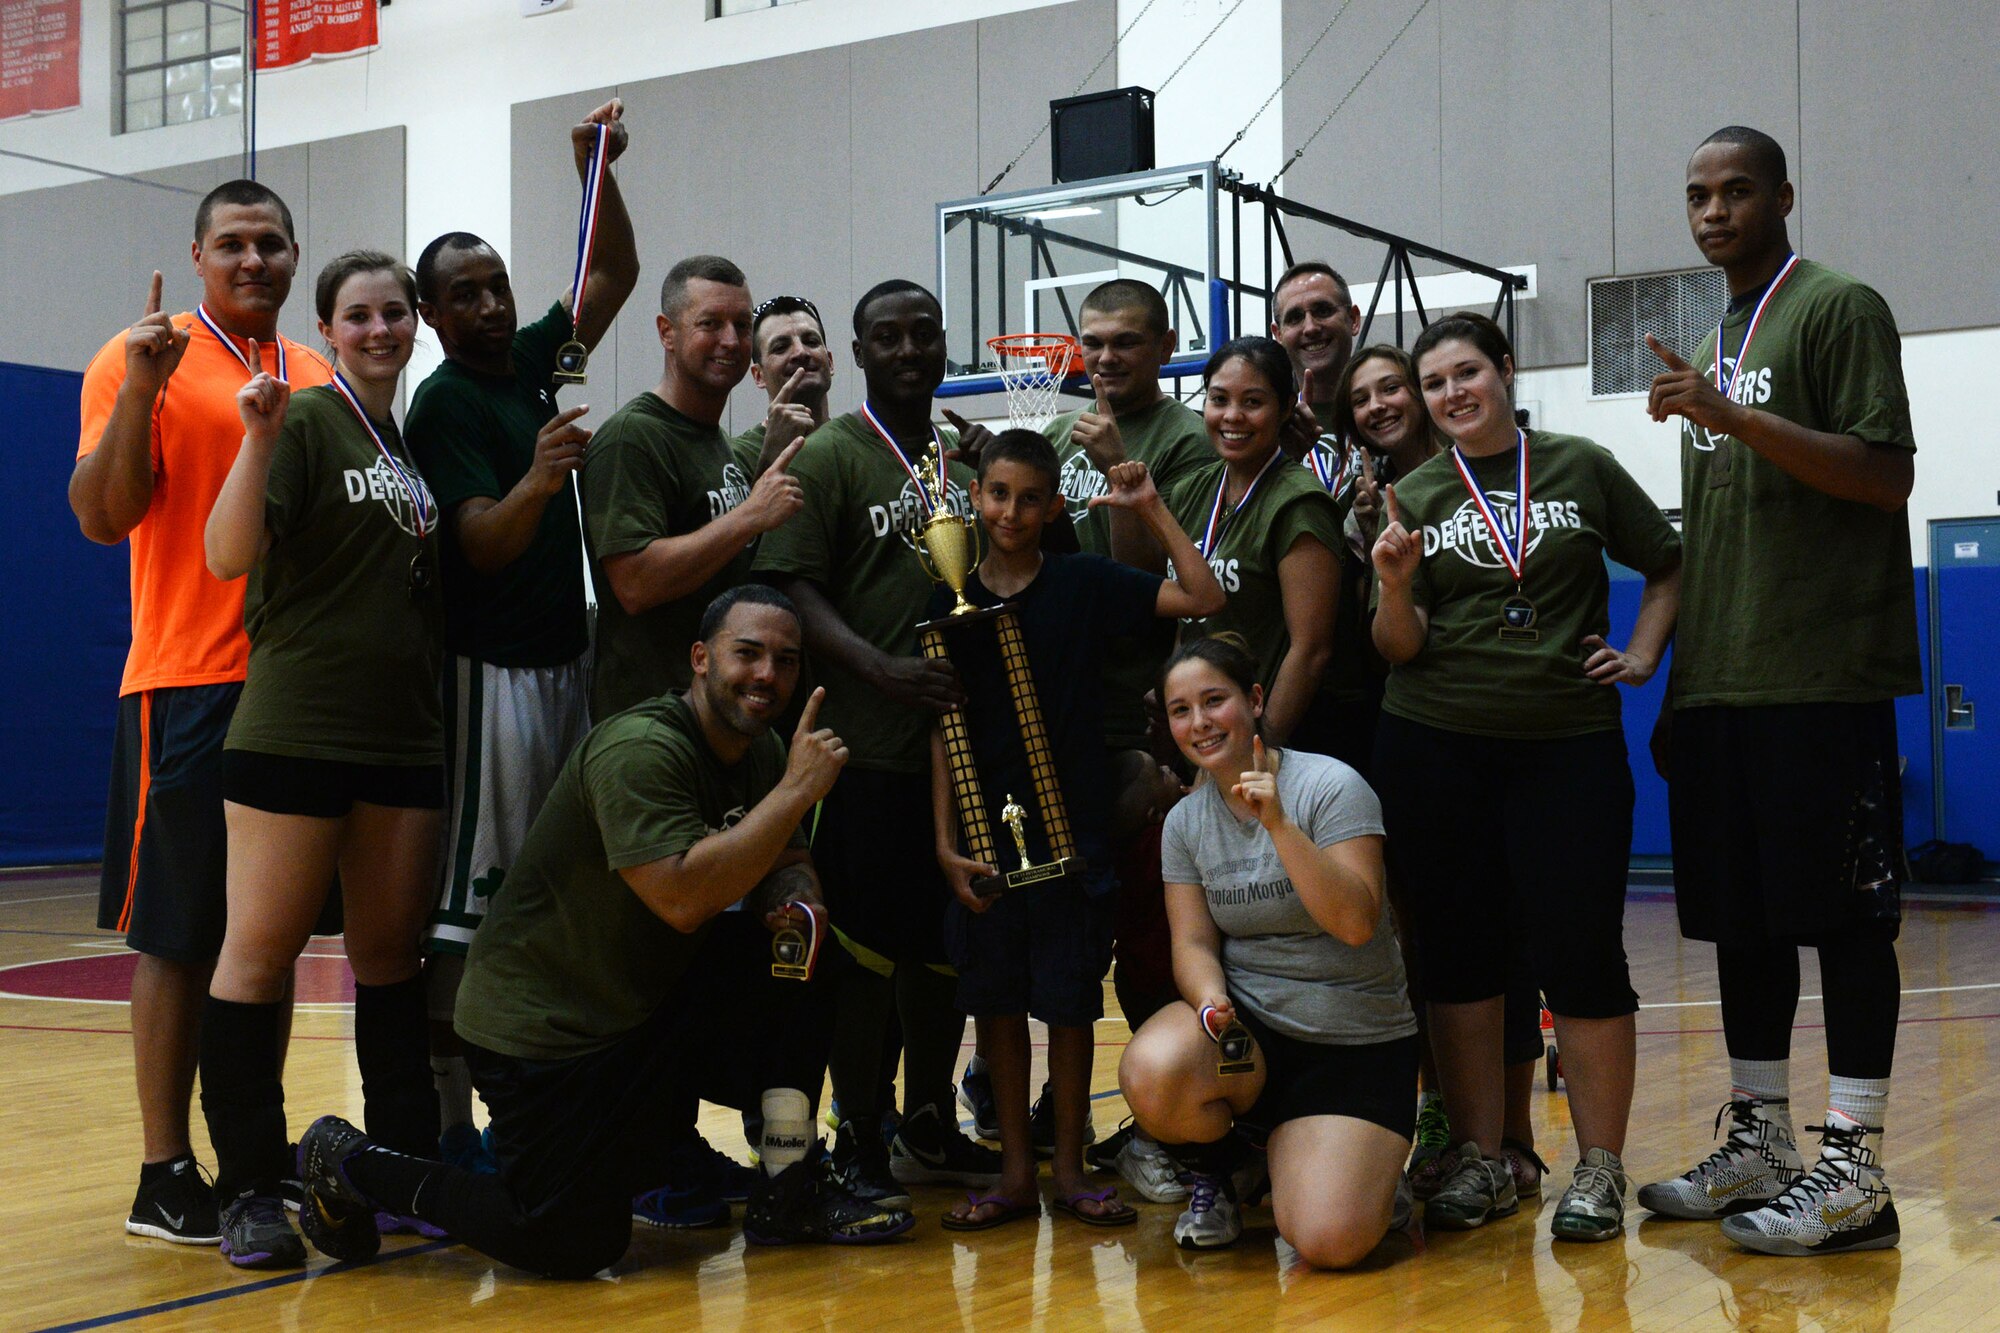
M 284 1005 L 202 1005 L 202 1115 L 216 1147 L 216 1197 L 276 1193 L 292 1175 L 284 1133 Z

